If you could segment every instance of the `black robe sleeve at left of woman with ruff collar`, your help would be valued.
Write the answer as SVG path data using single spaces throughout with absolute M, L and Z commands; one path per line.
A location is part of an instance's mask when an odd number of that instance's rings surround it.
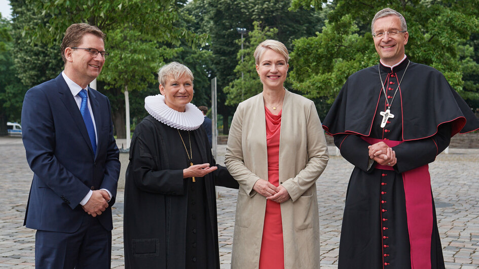
M 131 142 L 130 147 L 130 171 L 128 177 L 135 182 L 138 189 L 144 192 L 161 193 L 165 195 L 183 195 L 183 170 L 161 169 L 158 167 L 160 156 L 156 156 L 151 147 L 154 141 L 153 131 L 142 131 L 143 128 L 137 126 L 138 134 Z M 135 129 L 135 132 L 137 130 Z

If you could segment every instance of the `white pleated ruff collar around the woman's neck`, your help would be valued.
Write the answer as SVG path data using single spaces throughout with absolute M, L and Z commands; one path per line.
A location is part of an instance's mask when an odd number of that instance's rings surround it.
M 192 103 L 186 105 L 185 112 L 179 112 L 167 106 L 161 94 L 146 97 L 144 108 L 158 121 L 180 130 L 196 130 L 205 120 L 203 112 Z

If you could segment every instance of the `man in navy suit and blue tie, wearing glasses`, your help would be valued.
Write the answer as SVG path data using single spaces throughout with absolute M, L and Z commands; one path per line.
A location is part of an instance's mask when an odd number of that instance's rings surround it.
M 109 101 L 88 87 L 108 55 L 104 37 L 86 23 L 68 27 L 63 72 L 23 101 L 23 145 L 34 173 L 24 225 L 37 230 L 37 268 L 110 268 L 119 151 Z

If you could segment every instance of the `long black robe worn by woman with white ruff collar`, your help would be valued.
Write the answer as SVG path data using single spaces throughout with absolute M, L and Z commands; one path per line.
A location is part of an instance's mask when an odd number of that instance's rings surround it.
M 179 130 L 190 153 L 188 131 Z M 190 131 L 193 163 L 215 163 L 203 128 Z M 219 268 L 214 186 L 238 189 L 223 166 L 204 177 L 183 178 L 190 166 L 172 128 L 145 117 L 135 128 L 126 172 L 126 268 Z

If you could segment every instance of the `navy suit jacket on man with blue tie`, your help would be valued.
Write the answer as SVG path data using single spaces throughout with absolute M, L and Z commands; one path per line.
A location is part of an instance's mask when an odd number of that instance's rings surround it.
M 108 98 L 88 88 L 98 137 L 93 156 L 87 128 L 62 75 L 34 86 L 23 100 L 22 136 L 33 181 L 24 225 L 72 233 L 88 216 L 80 202 L 90 189 L 112 193 L 108 208 L 96 216 L 113 229 L 111 206 L 117 195 L 119 151 L 113 137 Z

